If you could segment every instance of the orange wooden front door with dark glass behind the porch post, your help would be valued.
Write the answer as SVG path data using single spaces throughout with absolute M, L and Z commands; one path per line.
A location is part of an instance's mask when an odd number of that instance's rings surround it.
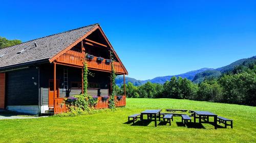
M 54 98 L 59 97 L 59 81 L 56 80 L 56 96 L 54 97 L 54 87 L 53 87 L 53 79 L 49 80 L 49 97 L 48 97 L 48 106 L 53 107 L 54 104 Z

